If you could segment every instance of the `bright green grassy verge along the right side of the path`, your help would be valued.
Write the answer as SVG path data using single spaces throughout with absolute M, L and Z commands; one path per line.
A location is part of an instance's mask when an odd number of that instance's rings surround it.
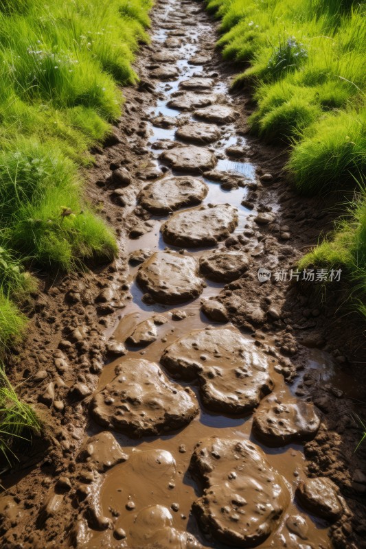
M 253 89 L 251 131 L 288 143 L 300 194 L 349 200 L 366 171 L 365 2 L 208 0 L 207 8 L 221 19 L 224 58 L 246 63 L 233 84 Z M 342 266 L 366 316 L 366 191 L 357 190 L 334 233 L 301 263 Z

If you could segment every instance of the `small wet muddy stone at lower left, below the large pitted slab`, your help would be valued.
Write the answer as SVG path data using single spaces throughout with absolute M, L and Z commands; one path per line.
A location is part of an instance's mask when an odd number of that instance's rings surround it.
M 82 447 L 78 460 L 88 463 L 96 471 L 103 473 L 128 459 L 112 433 L 103 431 L 90 439 Z

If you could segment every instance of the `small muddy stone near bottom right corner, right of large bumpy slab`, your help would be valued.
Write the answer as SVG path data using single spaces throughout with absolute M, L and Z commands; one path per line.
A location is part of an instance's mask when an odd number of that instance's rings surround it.
M 334 522 L 343 513 L 339 488 L 326 477 L 307 478 L 297 485 L 295 495 L 301 506 L 318 517 Z

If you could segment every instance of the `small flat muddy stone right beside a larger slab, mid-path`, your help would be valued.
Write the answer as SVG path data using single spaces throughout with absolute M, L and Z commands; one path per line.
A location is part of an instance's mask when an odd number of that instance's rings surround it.
M 210 280 L 230 282 L 242 276 L 249 267 L 249 259 L 243 252 L 217 250 L 200 258 L 200 270 Z

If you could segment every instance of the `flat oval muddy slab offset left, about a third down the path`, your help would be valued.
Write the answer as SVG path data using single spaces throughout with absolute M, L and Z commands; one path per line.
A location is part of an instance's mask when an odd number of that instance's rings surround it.
M 164 177 L 149 183 L 137 196 L 137 202 L 146 210 L 165 215 L 183 206 L 201 204 L 208 187 L 192 176 Z

